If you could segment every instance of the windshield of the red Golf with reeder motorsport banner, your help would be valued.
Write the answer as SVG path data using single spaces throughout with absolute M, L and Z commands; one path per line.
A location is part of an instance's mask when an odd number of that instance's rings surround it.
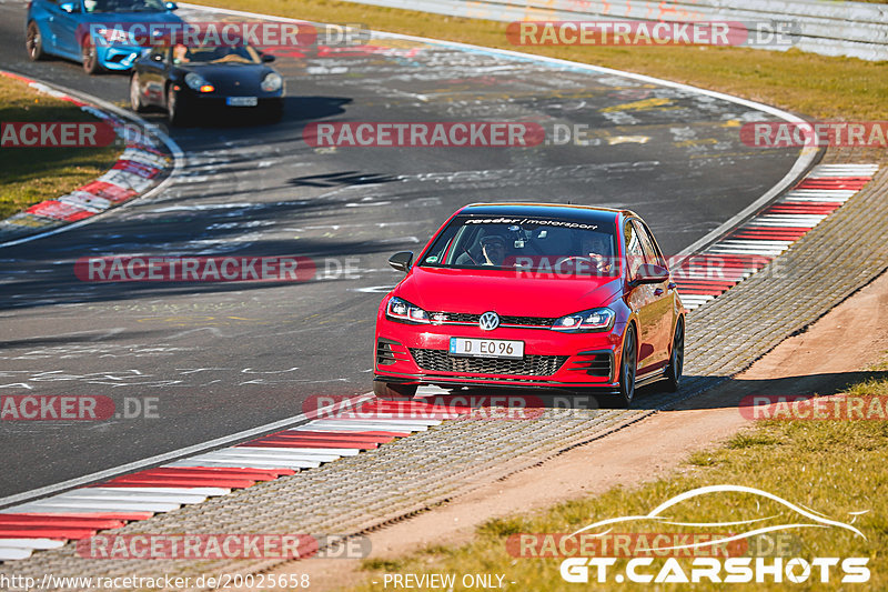
M 613 275 L 619 267 L 615 235 L 613 224 L 585 220 L 458 215 L 420 265 Z

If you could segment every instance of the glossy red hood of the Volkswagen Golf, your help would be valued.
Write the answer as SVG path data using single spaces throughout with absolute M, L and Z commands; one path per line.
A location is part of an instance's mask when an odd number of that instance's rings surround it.
M 609 304 L 620 278 L 556 278 L 504 270 L 414 268 L 394 295 L 432 312 L 562 317 Z

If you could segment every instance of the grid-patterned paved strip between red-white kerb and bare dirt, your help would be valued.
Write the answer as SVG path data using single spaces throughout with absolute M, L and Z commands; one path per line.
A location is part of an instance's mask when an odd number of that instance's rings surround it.
M 868 154 L 869 155 L 869 154 Z M 830 151 L 824 162 L 860 162 Z M 879 154 L 879 157 L 882 157 Z M 868 162 L 879 159 L 866 158 Z M 114 534 L 356 534 L 408 518 L 667 409 L 748 368 L 888 268 L 888 168 L 767 268 L 688 317 L 686 381 L 632 410 L 548 409 L 527 421 L 450 421 L 377 450 L 205 503 Z M 640 394 L 640 393 L 639 393 Z M 0 566 L 0 574 L 191 575 L 256 572 L 281 560 L 88 560 L 74 545 Z

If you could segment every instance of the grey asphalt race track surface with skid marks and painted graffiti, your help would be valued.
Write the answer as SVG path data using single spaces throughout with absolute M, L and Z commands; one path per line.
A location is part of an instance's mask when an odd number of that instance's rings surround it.
M 29 62 L 23 3 L 0 4 L 0 68 L 127 104 L 124 76 Z M 2 422 L 0 496 L 292 417 L 310 395 L 369 391 L 375 311 L 398 279 L 387 257 L 418 250 L 465 203 L 627 207 L 675 253 L 797 157 L 740 143 L 738 122 L 773 117 L 689 91 L 486 52 L 371 46 L 281 57 L 280 124 L 235 114 L 173 129 L 186 159 L 162 194 L 0 250 L 0 393 L 101 394 L 135 415 L 137 403 L 157 405 L 157 418 Z M 313 121 L 577 123 L 595 141 L 315 149 L 302 140 Z M 285 284 L 74 275 L 78 258 L 112 254 L 303 255 L 321 272 Z M 356 271 L 345 277 L 346 265 Z

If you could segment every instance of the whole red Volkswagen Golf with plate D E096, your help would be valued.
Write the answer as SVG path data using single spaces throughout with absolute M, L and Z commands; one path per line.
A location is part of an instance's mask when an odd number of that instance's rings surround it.
M 685 310 L 666 260 L 635 213 L 481 203 L 441 227 L 376 318 L 374 392 L 420 384 L 613 394 L 682 377 Z

